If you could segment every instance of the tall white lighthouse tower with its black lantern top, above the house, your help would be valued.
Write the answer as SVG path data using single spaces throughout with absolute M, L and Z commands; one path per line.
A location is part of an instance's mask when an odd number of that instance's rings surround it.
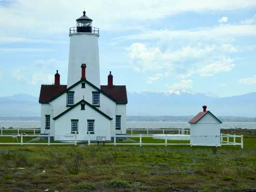
M 86 80 L 100 88 L 99 28 L 92 27 L 92 19 L 83 15 L 70 28 L 68 85 L 81 79 L 81 64 L 86 64 Z

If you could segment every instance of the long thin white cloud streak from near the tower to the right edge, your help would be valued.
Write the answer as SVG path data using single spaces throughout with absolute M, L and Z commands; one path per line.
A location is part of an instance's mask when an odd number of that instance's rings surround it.
M 220 25 L 216 27 L 199 27 L 187 30 L 146 30 L 135 35 L 120 36 L 111 42 L 121 42 L 130 40 L 163 40 L 173 41 L 177 39 L 189 41 L 227 41 L 238 37 L 256 37 L 256 25 Z

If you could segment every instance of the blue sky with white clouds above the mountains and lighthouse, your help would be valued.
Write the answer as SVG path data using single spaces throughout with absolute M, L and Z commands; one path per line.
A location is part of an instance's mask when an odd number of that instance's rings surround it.
M 100 82 L 130 92 L 256 92 L 256 0 L 0 0 L 0 96 L 39 96 L 83 11 L 100 28 Z

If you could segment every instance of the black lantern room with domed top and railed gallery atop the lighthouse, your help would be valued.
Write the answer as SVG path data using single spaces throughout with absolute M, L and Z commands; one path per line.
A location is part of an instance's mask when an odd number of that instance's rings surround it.
M 94 33 L 99 35 L 99 28 L 92 27 L 92 19 L 83 15 L 76 19 L 76 27 L 70 28 L 70 33 Z

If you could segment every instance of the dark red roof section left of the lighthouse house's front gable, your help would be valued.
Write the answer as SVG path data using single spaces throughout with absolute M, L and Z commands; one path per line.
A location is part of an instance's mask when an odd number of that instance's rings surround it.
M 67 85 L 41 85 L 39 103 L 48 103 L 52 98 L 64 92 Z

